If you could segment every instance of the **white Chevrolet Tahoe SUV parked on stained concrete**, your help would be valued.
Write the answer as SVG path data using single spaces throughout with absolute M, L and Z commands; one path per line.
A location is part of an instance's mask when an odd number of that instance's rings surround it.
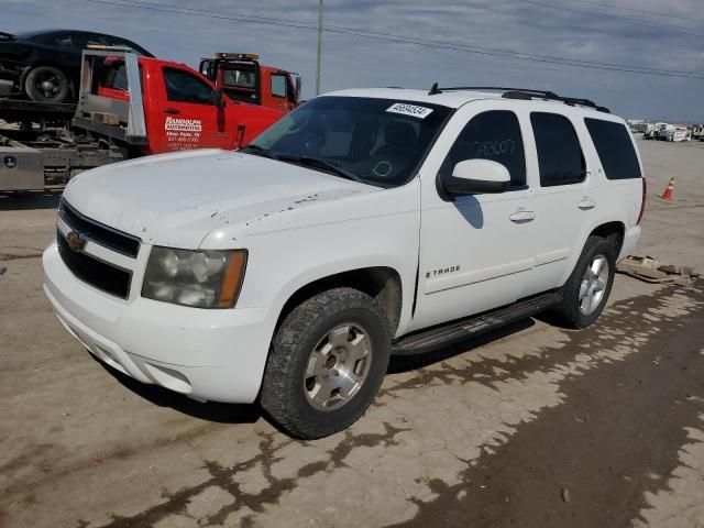
M 594 322 L 641 174 L 624 120 L 587 100 L 338 91 L 239 152 L 72 179 L 44 289 L 112 367 L 319 438 L 364 413 L 391 354 L 548 308 Z

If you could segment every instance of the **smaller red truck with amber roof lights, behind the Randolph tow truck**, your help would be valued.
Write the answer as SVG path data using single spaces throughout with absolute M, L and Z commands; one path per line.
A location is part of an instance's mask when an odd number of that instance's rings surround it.
M 258 63 L 251 53 L 216 53 L 200 62 L 200 73 L 233 101 L 289 112 L 298 106 L 300 76 Z

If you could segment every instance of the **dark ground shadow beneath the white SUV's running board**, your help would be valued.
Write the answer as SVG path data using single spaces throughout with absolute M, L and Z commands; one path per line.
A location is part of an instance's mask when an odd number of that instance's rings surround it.
M 458 341 L 440 349 L 415 355 L 392 355 L 386 374 L 402 374 L 417 371 L 418 369 L 440 363 L 449 360 L 450 358 L 454 358 L 455 355 L 463 354 L 464 352 L 471 352 L 472 350 L 479 349 L 480 346 L 491 343 L 492 341 L 496 341 L 497 339 L 506 338 L 522 330 L 527 330 L 535 324 L 536 320 L 529 317 L 482 336 L 477 336 L 476 338 L 470 337 L 465 340 Z

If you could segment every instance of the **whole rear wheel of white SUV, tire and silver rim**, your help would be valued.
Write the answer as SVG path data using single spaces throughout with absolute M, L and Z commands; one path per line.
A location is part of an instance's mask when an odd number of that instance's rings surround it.
M 592 324 L 606 305 L 615 272 L 614 244 L 601 237 L 590 237 L 572 275 L 562 287 L 562 304 L 557 311 L 573 328 Z

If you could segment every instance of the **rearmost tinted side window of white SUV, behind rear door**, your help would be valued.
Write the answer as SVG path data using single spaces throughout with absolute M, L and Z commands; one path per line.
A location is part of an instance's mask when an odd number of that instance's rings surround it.
M 640 178 L 638 156 L 630 133 L 620 123 L 585 118 L 594 146 L 608 179 Z

